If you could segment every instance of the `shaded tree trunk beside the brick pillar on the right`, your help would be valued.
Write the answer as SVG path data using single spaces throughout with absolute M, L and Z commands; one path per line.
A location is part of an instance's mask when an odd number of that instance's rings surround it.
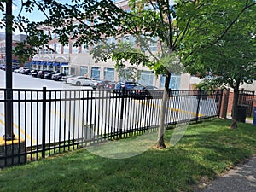
M 236 85 L 234 87 L 234 96 L 233 96 L 233 106 L 232 106 L 232 124 L 230 126 L 231 129 L 237 128 L 237 104 L 238 104 L 238 98 L 239 98 L 239 84 L 240 81 L 236 81 Z

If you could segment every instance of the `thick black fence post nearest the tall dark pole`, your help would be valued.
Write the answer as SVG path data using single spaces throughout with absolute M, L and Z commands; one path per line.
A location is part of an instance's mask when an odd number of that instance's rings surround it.
M 45 158 L 46 87 L 43 87 L 42 109 L 42 158 Z

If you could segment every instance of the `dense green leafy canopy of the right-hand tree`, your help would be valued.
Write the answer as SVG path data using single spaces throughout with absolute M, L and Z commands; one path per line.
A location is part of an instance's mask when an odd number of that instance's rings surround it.
M 201 1 L 203 2 L 203 1 Z M 180 27 L 189 28 L 183 39 L 183 63 L 189 73 L 208 82 L 226 84 L 251 83 L 255 79 L 255 1 L 205 1 L 191 6 L 198 14 L 188 13 L 190 23 L 180 20 Z M 187 9 L 184 9 L 187 10 Z M 184 14 L 184 11 L 178 14 Z

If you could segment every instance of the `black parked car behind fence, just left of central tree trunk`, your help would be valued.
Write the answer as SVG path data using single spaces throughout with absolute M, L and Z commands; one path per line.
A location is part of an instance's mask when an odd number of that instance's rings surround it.
M 154 96 L 160 96 L 159 93 L 155 90 L 158 90 L 158 88 L 155 86 L 138 85 L 128 91 L 128 96 L 131 96 L 135 99 L 153 98 Z M 160 98 L 161 97 L 162 96 L 160 96 Z

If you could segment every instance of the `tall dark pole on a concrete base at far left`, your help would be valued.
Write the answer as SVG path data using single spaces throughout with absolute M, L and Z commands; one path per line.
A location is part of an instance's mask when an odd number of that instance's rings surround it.
M 12 0 L 6 2 L 6 28 L 5 28 L 5 47 L 6 47 L 6 94 L 5 94 L 5 140 L 15 138 L 13 133 L 13 95 L 12 95 Z

